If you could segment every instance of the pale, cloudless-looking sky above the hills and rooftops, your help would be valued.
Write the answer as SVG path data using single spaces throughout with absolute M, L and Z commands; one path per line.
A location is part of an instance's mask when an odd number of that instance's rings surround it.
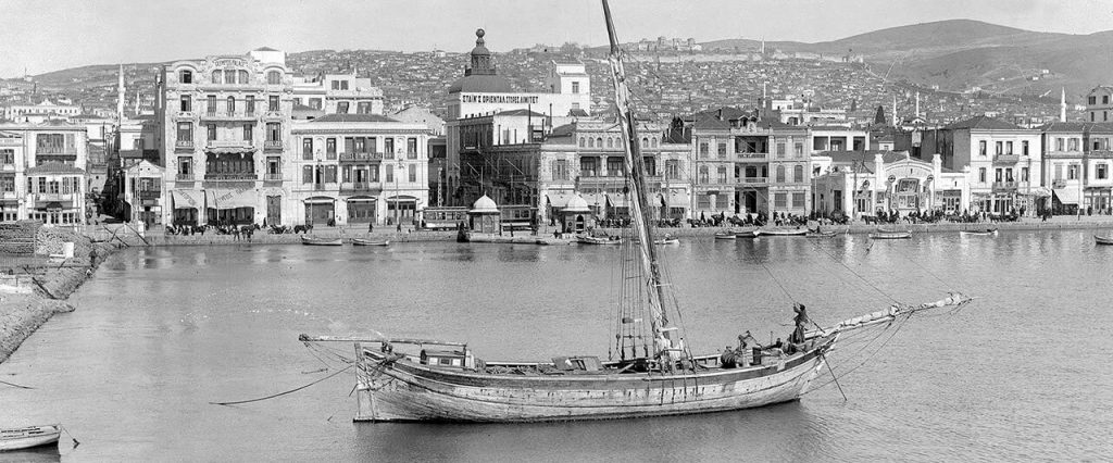
M 1113 29 L 1109 0 L 612 0 L 619 39 L 817 42 L 944 19 L 1027 30 Z M 595 0 L 0 0 L 0 77 L 83 65 L 286 51 L 471 49 L 607 41 Z

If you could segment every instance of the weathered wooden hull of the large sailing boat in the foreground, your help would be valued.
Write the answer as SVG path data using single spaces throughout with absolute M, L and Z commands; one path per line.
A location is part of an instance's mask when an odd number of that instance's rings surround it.
M 699 373 L 492 375 L 361 354 L 356 421 L 543 422 L 721 412 L 795 401 L 821 373 L 834 337 L 806 353 Z

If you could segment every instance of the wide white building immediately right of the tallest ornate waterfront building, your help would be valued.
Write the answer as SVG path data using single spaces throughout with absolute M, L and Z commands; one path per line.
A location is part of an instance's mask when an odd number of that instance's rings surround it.
M 268 165 L 265 180 L 293 180 L 293 223 L 414 224 L 429 206 L 425 125 L 333 114 L 298 122 L 292 137 L 298 148 L 288 162 L 290 175 Z

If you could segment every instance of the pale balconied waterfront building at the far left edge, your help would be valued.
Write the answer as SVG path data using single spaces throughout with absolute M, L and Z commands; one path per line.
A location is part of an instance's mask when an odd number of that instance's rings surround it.
M 3 218 L 83 224 L 87 148 L 83 126 L 60 120 L 0 125 Z

